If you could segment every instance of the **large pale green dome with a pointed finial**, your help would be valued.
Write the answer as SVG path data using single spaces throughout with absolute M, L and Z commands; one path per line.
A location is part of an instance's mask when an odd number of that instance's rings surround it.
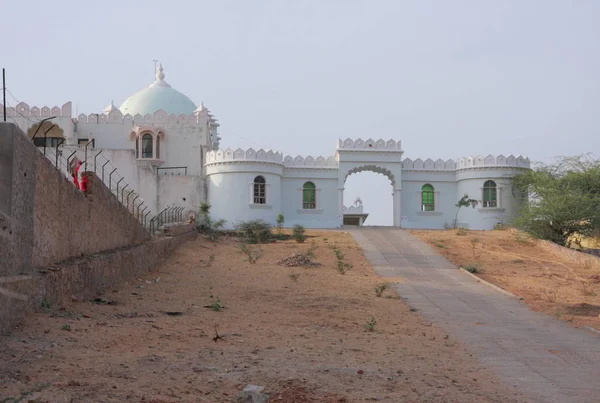
M 191 115 L 196 110 L 196 104 L 181 92 L 171 88 L 164 78 L 163 67 L 159 64 L 156 69 L 156 81 L 127 98 L 119 107 L 121 113 L 124 115 L 129 113 L 132 116 L 138 113 L 152 115 L 158 110 L 163 110 L 168 114 Z

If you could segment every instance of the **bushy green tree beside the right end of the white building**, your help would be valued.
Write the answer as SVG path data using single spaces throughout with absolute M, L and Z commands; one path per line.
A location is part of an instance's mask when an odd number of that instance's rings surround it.
M 513 184 L 529 196 L 517 228 L 567 247 L 574 235 L 594 236 L 600 229 L 600 161 L 589 154 L 559 157 L 516 176 Z

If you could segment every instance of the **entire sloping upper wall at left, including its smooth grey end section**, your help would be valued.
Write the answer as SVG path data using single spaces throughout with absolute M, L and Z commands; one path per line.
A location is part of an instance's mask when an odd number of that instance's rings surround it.
M 147 241 L 93 173 L 75 188 L 14 124 L 0 124 L 0 276 Z

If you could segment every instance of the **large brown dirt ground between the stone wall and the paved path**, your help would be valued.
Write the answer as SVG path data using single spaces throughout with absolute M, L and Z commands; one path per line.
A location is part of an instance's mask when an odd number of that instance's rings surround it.
M 0 338 L 0 402 L 230 402 L 248 384 L 272 402 L 525 400 L 391 290 L 376 297 L 349 234 L 308 235 L 256 264 L 235 239 L 198 238 L 96 301 L 45 307 Z M 277 265 L 311 246 L 321 266 Z

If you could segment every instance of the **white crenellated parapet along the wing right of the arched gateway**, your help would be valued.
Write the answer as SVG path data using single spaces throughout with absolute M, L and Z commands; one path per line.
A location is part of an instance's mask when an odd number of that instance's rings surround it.
M 462 157 L 458 161 L 452 159 L 446 161 L 438 159 L 434 161 L 431 158 L 426 160 L 422 160 L 421 158 L 417 158 L 416 160 L 406 158 L 402 161 L 402 169 L 407 171 L 457 171 L 478 167 L 530 168 L 531 163 L 529 158 L 523 158 L 522 156 L 515 157 L 514 155 L 505 157 L 502 154 L 498 156 L 488 155 L 487 157 L 481 155 L 476 157 Z

